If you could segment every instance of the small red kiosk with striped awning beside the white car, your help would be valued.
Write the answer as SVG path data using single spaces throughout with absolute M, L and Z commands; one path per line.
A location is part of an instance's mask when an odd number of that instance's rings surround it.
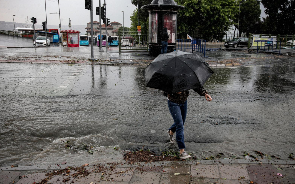
M 64 30 L 60 31 L 63 47 L 79 47 L 79 31 Z

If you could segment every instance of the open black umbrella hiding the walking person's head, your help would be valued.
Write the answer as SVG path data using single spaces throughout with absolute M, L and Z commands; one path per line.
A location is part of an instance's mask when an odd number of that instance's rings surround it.
M 147 87 L 170 94 L 203 87 L 213 73 L 198 54 L 182 51 L 160 54 L 142 71 Z

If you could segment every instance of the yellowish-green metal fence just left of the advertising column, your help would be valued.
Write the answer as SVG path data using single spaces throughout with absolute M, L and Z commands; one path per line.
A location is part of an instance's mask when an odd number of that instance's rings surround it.
M 119 52 L 122 50 L 148 51 L 148 32 L 120 32 Z

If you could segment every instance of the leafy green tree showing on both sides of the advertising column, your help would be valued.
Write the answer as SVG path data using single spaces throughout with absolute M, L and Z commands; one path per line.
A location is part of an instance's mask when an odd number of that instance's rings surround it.
M 151 1 L 139 0 L 140 7 L 150 4 Z M 239 8 L 237 0 L 175 0 L 175 2 L 185 7 L 178 12 L 178 39 L 186 38 L 186 34 L 190 34 L 194 38 L 207 41 L 221 40 L 233 24 Z M 132 0 L 132 4 L 137 6 L 137 0 Z M 138 24 L 137 11 L 133 12 L 130 20 L 131 29 L 135 29 L 135 25 Z M 148 31 L 148 10 L 140 8 L 139 20 L 142 31 Z

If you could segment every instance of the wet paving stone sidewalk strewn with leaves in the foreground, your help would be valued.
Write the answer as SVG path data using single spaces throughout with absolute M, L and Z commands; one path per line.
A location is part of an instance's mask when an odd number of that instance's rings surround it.
M 295 184 L 295 160 L 200 160 L 0 168 L 1 184 Z

